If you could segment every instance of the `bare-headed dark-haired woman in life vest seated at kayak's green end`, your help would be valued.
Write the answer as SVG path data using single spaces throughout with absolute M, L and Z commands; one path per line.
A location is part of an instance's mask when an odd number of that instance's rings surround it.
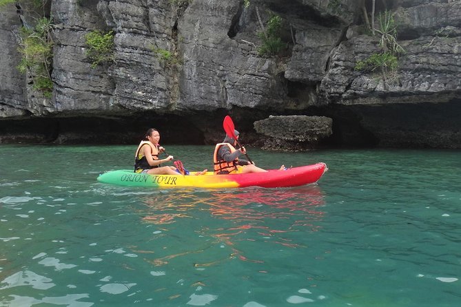
M 161 164 L 173 160 L 173 156 L 161 159 L 159 154 L 164 150 L 163 147 L 158 145 L 160 142 L 160 134 L 155 128 L 150 128 L 145 133 L 144 140 L 139 143 L 138 149 L 134 156 L 134 172 L 135 173 L 150 173 L 156 175 L 178 175 L 180 173 L 176 167 L 165 166 Z M 198 172 L 197 175 L 206 173 L 204 171 Z M 188 174 L 188 172 L 187 172 Z

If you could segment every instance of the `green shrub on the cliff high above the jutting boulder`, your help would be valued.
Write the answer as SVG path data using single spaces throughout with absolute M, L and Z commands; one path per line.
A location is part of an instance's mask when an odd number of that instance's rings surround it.
M 282 22 L 282 17 L 272 14 L 269 21 L 267 21 L 265 32 L 258 32 L 258 37 L 263 41 L 263 44 L 258 47 L 258 53 L 261 56 L 276 55 L 287 47 L 287 44 L 283 43 L 280 38 Z

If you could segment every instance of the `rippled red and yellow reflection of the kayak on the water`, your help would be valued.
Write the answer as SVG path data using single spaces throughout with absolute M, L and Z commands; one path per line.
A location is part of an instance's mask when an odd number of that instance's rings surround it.
M 267 251 L 280 249 L 280 246 L 305 247 L 305 234 L 318 231 L 325 215 L 321 210 L 325 204 L 324 195 L 317 185 L 290 189 L 172 191 L 150 195 L 143 202 L 146 207 L 139 212 L 143 222 L 163 225 L 163 231 L 167 232 L 174 229 L 169 224 L 181 223 L 182 226 L 185 219 L 190 219 L 185 221 L 184 231 L 212 237 L 212 246 L 230 249 L 230 253 L 221 255 L 218 260 L 195 263 L 196 267 L 212 266 L 234 258 L 262 263 L 260 259 L 264 257 L 247 257 L 248 251 L 258 254 L 259 251 L 254 250 L 260 248 L 260 244 L 272 245 L 267 246 Z M 163 266 L 175 257 L 205 252 L 192 243 L 184 248 L 181 253 L 149 262 Z

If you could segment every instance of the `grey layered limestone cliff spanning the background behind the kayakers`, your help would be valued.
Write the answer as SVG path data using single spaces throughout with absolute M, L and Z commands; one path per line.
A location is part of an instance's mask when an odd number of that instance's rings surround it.
M 18 120 L 23 127 L 2 129 L 0 142 L 21 139 L 28 123 L 46 131 L 31 140 L 105 142 L 107 135 L 79 128 L 85 116 L 86 127 L 108 120 L 119 129 L 112 142 L 154 125 L 172 136 L 190 129 L 212 143 L 221 141 L 223 115 L 232 114 L 256 144 L 265 136 L 255 134 L 255 121 L 309 114 L 331 118 L 331 145 L 461 148 L 460 1 L 376 1 L 376 16 L 393 12 L 405 50 L 387 75 L 355 69 L 382 50 L 380 37 L 365 30 L 371 0 L 251 0 L 248 7 L 242 0 L 43 2 L 55 25 L 51 98 L 15 68 L 19 29 L 36 16 L 30 1 L 0 8 L 0 127 Z M 272 14 L 283 19 L 286 49 L 260 56 L 258 32 Z M 93 30 L 114 32 L 115 63 L 90 67 L 85 34 Z M 293 123 L 285 119 L 283 125 Z M 112 125 L 116 120 L 123 125 Z M 285 142 L 309 149 L 307 140 Z

